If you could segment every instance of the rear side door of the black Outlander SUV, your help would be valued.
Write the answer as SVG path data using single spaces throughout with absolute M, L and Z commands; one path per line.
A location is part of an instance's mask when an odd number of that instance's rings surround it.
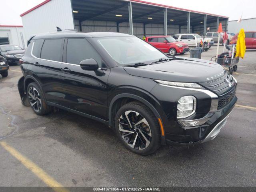
M 32 60 L 28 70 L 39 79 L 48 102 L 58 104 L 61 99 L 60 64 L 64 38 L 37 39 L 32 45 Z

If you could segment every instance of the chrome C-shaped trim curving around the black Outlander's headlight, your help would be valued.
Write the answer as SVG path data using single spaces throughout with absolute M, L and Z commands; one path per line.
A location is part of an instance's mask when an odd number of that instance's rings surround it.
M 166 87 L 171 87 L 171 88 L 177 88 L 177 89 L 185 89 L 185 90 L 203 92 L 203 93 L 207 94 L 208 96 L 210 96 L 212 98 L 210 111 L 203 118 L 193 119 L 193 120 L 181 120 L 181 119 L 177 118 L 178 122 L 184 127 L 184 129 L 191 129 L 191 128 L 195 128 L 195 126 L 200 126 L 200 125 L 204 124 L 217 111 L 219 98 L 215 93 L 211 92 L 210 90 L 196 89 L 196 88 L 186 88 L 186 87 L 176 87 L 176 86 L 170 86 L 170 85 L 164 85 L 164 84 L 159 84 L 159 85 L 166 86 Z M 186 122 L 193 122 L 193 121 L 198 121 L 198 122 L 195 123 L 196 125 L 192 125 L 192 126 L 187 126 L 185 124 Z

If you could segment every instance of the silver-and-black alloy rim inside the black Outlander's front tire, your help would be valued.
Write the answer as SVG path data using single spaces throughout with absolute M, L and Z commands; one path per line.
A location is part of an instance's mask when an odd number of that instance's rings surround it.
M 128 146 L 137 150 L 147 148 L 152 133 L 147 120 L 138 112 L 125 111 L 119 118 L 119 131 Z

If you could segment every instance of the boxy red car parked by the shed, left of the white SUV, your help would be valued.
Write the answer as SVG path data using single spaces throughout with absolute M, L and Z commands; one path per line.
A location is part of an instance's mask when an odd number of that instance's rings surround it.
M 187 43 L 178 42 L 171 36 L 150 36 L 146 37 L 146 42 L 170 55 L 184 54 L 189 51 Z

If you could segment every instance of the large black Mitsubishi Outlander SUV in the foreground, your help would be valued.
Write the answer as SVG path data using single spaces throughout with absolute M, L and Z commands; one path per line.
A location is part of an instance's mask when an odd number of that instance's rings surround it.
M 167 57 L 128 34 L 38 35 L 20 63 L 23 104 L 38 115 L 54 106 L 103 122 L 138 154 L 212 140 L 237 100 L 236 79 L 219 64 Z

